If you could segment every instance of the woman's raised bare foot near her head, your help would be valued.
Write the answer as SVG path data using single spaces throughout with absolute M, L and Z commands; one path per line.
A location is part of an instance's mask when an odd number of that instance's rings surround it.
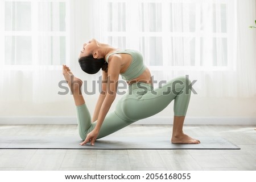
M 82 86 L 81 79 L 75 77 L 73 75 L 73 73 L 71 72 L 71 70 L 69 69 L 69 67 L 66 66 L 66 65 L 63 65 L 62 71 L 63 71 L 64 78 L 68 83 L 69 88 L 71 88 L 72 94 L 73 95 L 74 94 L 82 95 L 82 93 L 81 93 L 81 86 Z

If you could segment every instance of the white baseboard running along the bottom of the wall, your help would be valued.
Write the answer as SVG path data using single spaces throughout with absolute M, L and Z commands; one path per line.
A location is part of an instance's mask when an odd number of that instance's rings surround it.
M 76 117 L 0 117 L 0 125 L 18 124 L 77 124 Z M 135 125 L 171 125 L 172 118 L 149 117 Z M 185 125 L 256 125 L 256 118 L 187 117 Z

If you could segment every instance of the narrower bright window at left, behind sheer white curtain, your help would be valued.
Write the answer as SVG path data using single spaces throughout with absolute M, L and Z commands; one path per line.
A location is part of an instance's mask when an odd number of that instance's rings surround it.
M 69 57 L 69 1 L 1 1 L 1 65 L 52 66 Z

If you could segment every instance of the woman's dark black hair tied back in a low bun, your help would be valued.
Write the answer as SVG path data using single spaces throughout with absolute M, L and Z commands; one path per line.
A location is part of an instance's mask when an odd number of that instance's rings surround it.
M 101 58 L 100 60 L 93 58 L 92 55 L 81 57 L 79 59 L 79 64 L 81 69 L 88 74 L 95 74 L 102 69 L 103 71 L 108 71 L 108 63 Z

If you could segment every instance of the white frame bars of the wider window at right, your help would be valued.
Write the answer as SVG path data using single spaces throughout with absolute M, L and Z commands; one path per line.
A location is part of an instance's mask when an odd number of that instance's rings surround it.
M 161 3 L 162 4 L 162 17 L 166 14 L 168 11 L 168 5 L 170 3 L 181 3 L 178 0 L 130 0 L 129 2 L 136 2 L 136 3 Z M 105 0 L 105 7 L 108 7 L 109 3 L 125 3 L 126 0 Z M 183 3 L 195 3 L 196 5 L 196 26 L 195 26 L 195 32 L 170 32 L 168 30 L 168 27 L 162 23 L 162 31 L 160 32 L 129 32 L 127 31 L 108 31 L 106 27 L 104 26 L 104 32 L 102 34 L 106 37 L 126 37 L 126 39 L 129 39 L 129 36 L 134 35 L 134 33 L 138 37 L 162 37 L 163 45 L 164 41 L 170 39 L 171 37 L 191 37 L 195 39 L 195 66 L 168 66 L 168 55 L 165 54 L 165 51 L 163 51 L 163 65 L 161 66 L 148 66 L 151 68 L 152 71 L 162 71 L 164 70 L 192 70 L 192 71 L 235 71 L 236 70 L 236 1 L 229 1 L 229 0 L 209 0 L 208 3 L 221 3 L 226 4 L 226 32 L 212 32 L 210 33 L 210 37 L 212 39 L 216 38 L 226 38 L 227 39 L 227 65 L 226 66 L 203 66 L 200 64 L 200 41 L 202 37 L 205 37 L 203 33 L 201 33 L 200 30 L 200 0 L 184 0 Z M 127 6 L 126 6 L 126 22 L 129 22 L 129 14 L 127 13 Z M 106 20 L 106 18 L 105 18 Z M 106 22 L 104 22 L 106 24 Z M 233 23 L 234 28 L 230 28 L 230 24 Z M 128 26 L 126 26 L 128 27 Z M 208 35 L 209 36 L 209 35 Z M 165 48 L 163 48 L 165 49 Z M 147 61 L 147 60 L 146 60 Z

